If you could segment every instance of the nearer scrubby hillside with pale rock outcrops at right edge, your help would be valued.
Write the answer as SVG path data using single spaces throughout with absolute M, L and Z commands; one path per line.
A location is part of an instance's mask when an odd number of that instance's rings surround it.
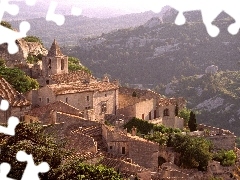
M 240 136 L 240 71 L 175 78 L 158 92 L 185 97 L 187 106 L 198 112 L 198 123 L 229 129 Z

